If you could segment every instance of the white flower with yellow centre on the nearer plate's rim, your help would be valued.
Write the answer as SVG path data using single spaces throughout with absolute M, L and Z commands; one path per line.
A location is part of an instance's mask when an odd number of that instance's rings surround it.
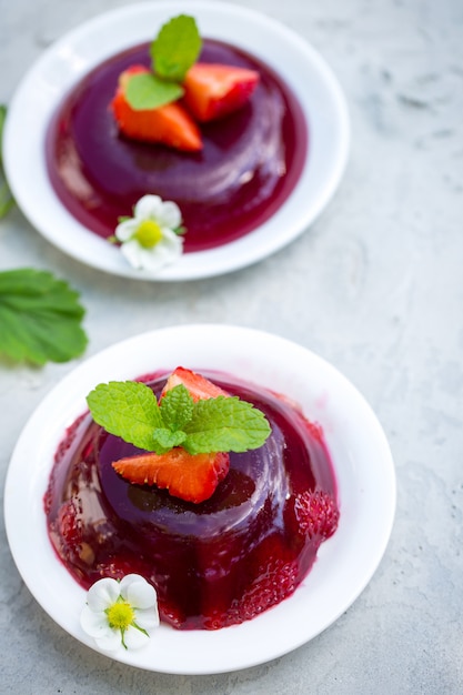
M 105 577 L 90 587 L 80 615 L 84 632 L 101 649 L 122 646 L 138 649 L 149 638 L 149 629 L 159 626 L 155 590 L 139 574 L 128 574 L 121 582 Z

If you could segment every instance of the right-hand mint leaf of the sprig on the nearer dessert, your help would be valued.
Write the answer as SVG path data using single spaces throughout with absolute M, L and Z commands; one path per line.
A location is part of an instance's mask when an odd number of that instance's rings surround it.
M 190 454 L 244 452 L 262 446 L 270 425 L 261 411 L 238 397 L 219 396 L 198 401 L 185 425 L 182 446 Z

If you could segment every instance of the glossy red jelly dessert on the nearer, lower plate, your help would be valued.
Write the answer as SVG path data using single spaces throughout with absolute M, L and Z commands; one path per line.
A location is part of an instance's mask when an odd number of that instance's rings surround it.
M 143 381 L 159 395 L 165 376 Z M 209 500 L 183 502 L 118 475 L 112 462 L 140 450 L 90 414 L 67 432 L 44 496 L 51 543 L 82 587 L 140 574 L 157 588 L 161 620 L 181 629 L 242 623 L 291 595 L 339 518 L 320 427 L 270 391 L 211 381 L 253 403 L 272 433 L 260 449 L 230 453 Z

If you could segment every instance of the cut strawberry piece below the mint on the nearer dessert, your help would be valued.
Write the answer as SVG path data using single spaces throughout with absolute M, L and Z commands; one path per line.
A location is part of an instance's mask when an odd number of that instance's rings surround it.
M 155 485 L 185 502 L 204 502 L 230 467 L 229 454 L 189 454 L 180 446 L 165 454 L 121 459 L 113 469 L 131 483 Z

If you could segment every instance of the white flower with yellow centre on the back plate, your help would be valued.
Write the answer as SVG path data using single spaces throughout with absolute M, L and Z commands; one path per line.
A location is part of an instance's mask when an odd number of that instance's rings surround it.
M 143 195 L 133 209 L 133 218 L 115 228 L 115 239 L 133 268 L 157 272 L 182 254 L 183 239 L 179 235 L 182 215 L 179 207 L 163 202 L 159 195 Z

